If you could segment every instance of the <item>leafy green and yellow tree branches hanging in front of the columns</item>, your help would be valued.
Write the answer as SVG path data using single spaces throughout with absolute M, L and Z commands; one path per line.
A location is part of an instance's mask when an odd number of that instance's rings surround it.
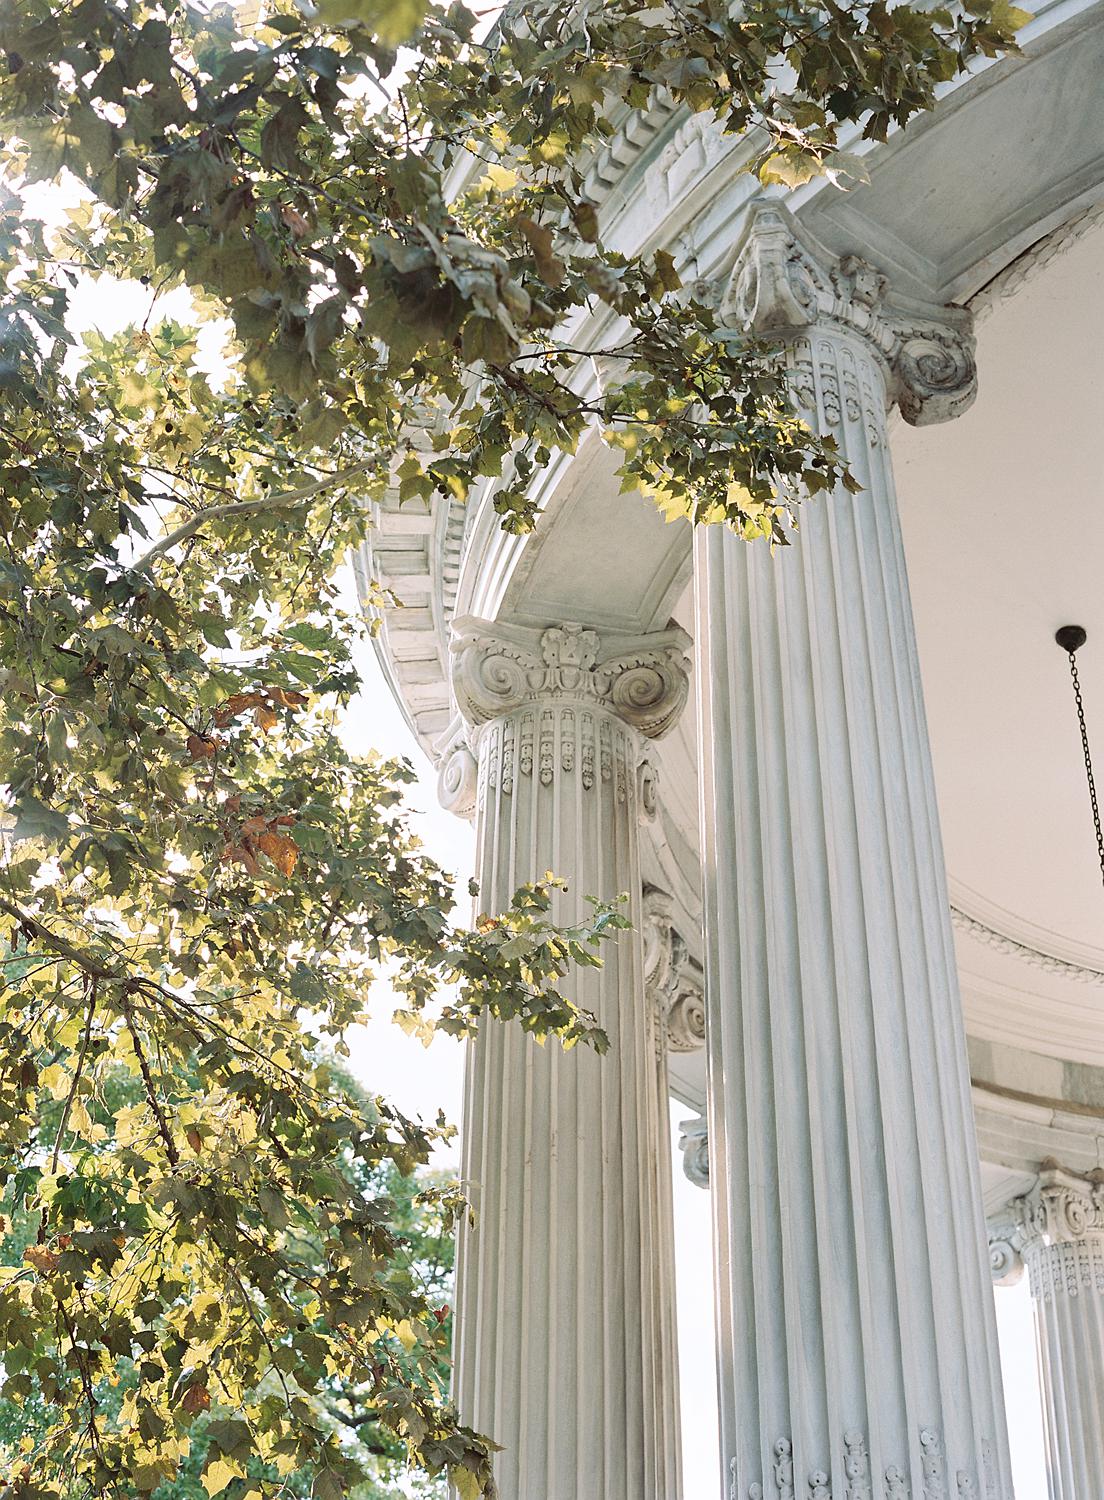
M 542 885 L 452 926 L 410 770 L 334 732 L 360 628 L 334 573 L 390 486 L 486 482 L 528 528 L 531 477 L 594 428 L 669 514 L 782 540 L 798 489 L 846 482 L 834 446 L 668 252 L 603 246 L 586 160 L 662 92 L 753 132 L 764 182 L 849 172 L 844 128 L 882 138 L 1023 20 L 602 0 L 478 40 L 428 0 L 0 0 L 8 1496 L 336 1500 L 372 1468 L 352 1398 L 490 1492 L 382 1192 L 444 1126 L 350 1096 L 320 1046 L 382 962 L 412 1030 L 602 1046 L 558 981 L 620 918 L 556 932 Z M 78 344 L 98 276 L 147 312 Z

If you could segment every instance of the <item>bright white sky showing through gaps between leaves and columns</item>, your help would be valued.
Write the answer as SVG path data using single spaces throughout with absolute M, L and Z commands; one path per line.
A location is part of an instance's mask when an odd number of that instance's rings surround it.
M 60 200 L 56 189 L 28 194 L 28 210 L 54 218 Z M 52 212 L 51 212 L 52 210 Z M 128 322 L 141 322 L 150 294 L 136 285 L 88 280 L 74 294 L 70 327 L 74 332 L 98 328 L 117 333 Z M 158 304 L 160 315 L 188 316 L 186 291 L 172 292 Z M 206 364 L 216 368 L 219 333 L 212 328 L 201 340 L 208 351 Z M 346 570 L 346 590 L 352 602 L 352 573 Z M 417 826 L 428 850 L 460 885 L 474 868 L 472 830 L 441 810 L 436 801 L 435 772 L 406 728 L 384 681 L 370 645 L 358 654 L 363 688 L 351 705 L 344 736 L 351 748 L 375 748 L 384 754 L 406 756 L 418 771 L 408 804 L 417 810 Z M 462 910 L 462 908 L 460 908 Z M 429 1048 L 390 1024 L 390 1000 L 384 986 L 372 996 L 372 1023 L 350 1036 L 352 1066 L 368 1088 L 384 1094 L 406 1114 L 434 1119 L 444 1108 L 450 1120 L 460 1120 L 462 1047 L 440 1036 Z M 672 1149 L 678 1120 L 688 1112 L 672 1102 Z M 458 1166 L 459 1143 L 440 1152 L 441 1166 Z M 717 1452 L 717 1396 L 712 1334 L 712 1266 L 710 1256 L 710 1194 L 690 1184 L 675 1152 L 675 1256 L 678 1276 L 680 1365 L 682 1394 L 684 1500 L 718 1500 L 720 1458 Z M 1035 1334 L 1026 1280 L 1014 1288 L 996 1292 L 1000 1352 L 1008 1404 L 1012 1470 L 1018 1500 L 1046 1500 L 1047 1482 L 1042 1449 L 1042 1408 L 1038 1392 Z

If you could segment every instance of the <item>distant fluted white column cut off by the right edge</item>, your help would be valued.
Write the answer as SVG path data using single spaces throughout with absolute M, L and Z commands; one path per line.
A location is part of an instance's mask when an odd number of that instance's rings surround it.
M 998 1282 L 1028 1268 L 1050 1500 L 1104 1500 L 1104 1180 L 1047 1162 L 990 1250 Z

